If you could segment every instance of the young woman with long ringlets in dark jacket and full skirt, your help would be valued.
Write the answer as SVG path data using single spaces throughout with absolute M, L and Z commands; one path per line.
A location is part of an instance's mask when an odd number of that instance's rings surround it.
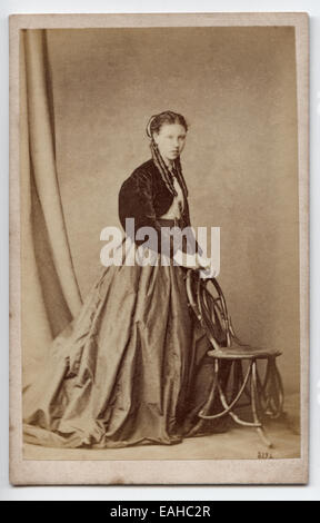
M 220 430 L 197 416 L 208 397 L 212 364 L 184 280 L 188 268 L 212 270 L 210 260 L 197 243 L 192 249 L 186 241 L 174 244 L 172 236 L 167 263 L 161 255 L 168 240 L 163 227 L 191 225 L 180 162 L 187 131 L 176 112 L 150 119 L 152 157 L 119 194 L 123 228 L 126 219 L 134 219 L 131 243 L 121 265 L 103 268 L 72 326 L 53 342 L 43 374 L 26 391 L 26 442 L 121 447 L 173 444 Z M 142 227 L 156 231 L 147 247 Z M 141 248 L 143 255 L 151 251 L 153 263 L 126 264 Z

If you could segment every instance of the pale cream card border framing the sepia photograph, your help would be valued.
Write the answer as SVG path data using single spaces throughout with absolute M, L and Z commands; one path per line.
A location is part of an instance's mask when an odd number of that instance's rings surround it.
M 307 484 L 309 470 L 309 16 L 306 12 L 11 14 L 10 22 L 10 483 L 12 485 Z M 301 457 L 288 460 L 31 461 L 22 457 L 20 336 L 19 31 L 112 27 L 296 28 Z M 18 154 L 17 154 L 18 151 Z M 138 466 L 139 465 L 139 466 Z M 77 477 L 77 480 L 74 480 Z M 183 480 L 182 480 L 183 478 Z

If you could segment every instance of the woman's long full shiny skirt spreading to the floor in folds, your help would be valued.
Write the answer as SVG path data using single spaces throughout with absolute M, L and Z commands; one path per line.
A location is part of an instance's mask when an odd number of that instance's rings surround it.
M 134 256 L 132 244 L 126 257 Z M 226 430 L 200 421 L 211 348 L 188 305 L 186 269 L 103 267 L 79 316 L 23 394 L 24 442 L 51 447 L 180 443 Z M 123 258 L 124 259 L 124 258 Z M 219 409 L 217 402 L 212 408 Z

